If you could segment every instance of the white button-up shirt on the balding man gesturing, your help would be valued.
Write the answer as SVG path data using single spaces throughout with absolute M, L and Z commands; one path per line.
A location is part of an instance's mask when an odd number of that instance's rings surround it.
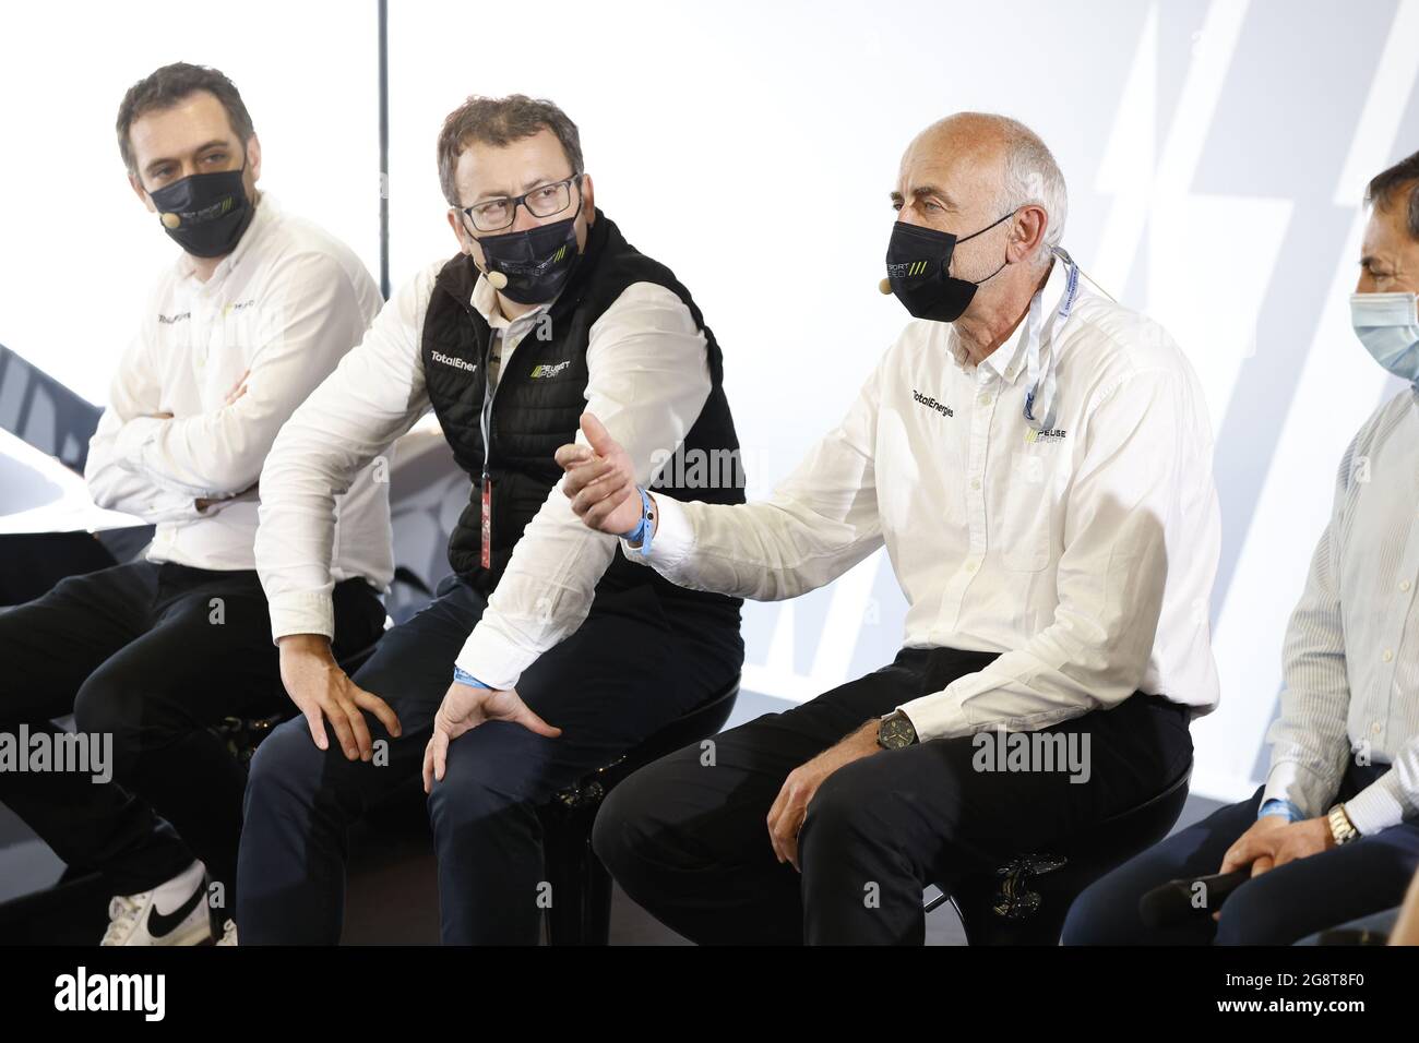
M 1066 281 L 1056 264 L 1033 307 L 1057 309 Z M 1023 412 L 1042 335 L 1057 414 L 1036 431 Z M 1164 329 L 1083 287 L 1063 326 L 1023 321 L 979 366 L 951 325 L 910 324 L 765 502 L 656 500 L 648 563 L 695 589 L 796 597 L 885 543 L 907 646 L 1002 653 L 901 707 L 924 741 L 1046 728 L 1135 690 L 1216 705 L 1203 394 Z

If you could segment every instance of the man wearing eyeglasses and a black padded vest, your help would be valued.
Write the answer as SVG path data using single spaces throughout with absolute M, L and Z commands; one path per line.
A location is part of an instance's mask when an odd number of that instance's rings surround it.
M 460 253 L 386 305 L 261 474 L 257 562 L 304 719 L 251 766 L 243 942 L 339 941 L 348 826 L 421 772 L 443 939 L 535 944 L 558 901 L 536 806 L 742 664 L 738 599 L 637 569 L 555 491 L 553 453 L 592 409 L 640 482 L 664 465 L 678 495 L 744 501 L 736 467 L 714 481 L 680 465 L 738 453 L 690 292 L 596 209 L 576 126 L 551 102 L 470 98 L 444 122 L 438 172 Z M 471 478 L 453 575 L 349 678 L 329 651 L 332 497 L 430 407 Z

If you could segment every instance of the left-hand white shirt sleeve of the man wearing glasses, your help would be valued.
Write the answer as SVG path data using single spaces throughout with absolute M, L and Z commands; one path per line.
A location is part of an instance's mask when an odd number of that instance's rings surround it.
M 400 288 L 265 457 L 255 559 L 274 639 L 335 636 L 335 501 L 429 410 L 419 331 L 431 291 L 431 270 Z

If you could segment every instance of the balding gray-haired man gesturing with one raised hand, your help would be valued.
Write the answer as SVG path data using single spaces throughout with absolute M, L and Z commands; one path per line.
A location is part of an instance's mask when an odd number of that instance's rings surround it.
M 1168 789 L 1218 701 L 1212 433 L 1188 360 L 1081 284 L 1063 177 L 1016 121 L 927 128 L 891 200 L 883 288 L 918 321 L 846 419 L 771 500 L 657 491 L 624 541 L 675 583 L 761 600 L 885 545 L 910 606 L 890 666 L 607 799 L 596 851 L 695 941 L 920 942 L 928 884 Z M 558 450 L 563 490 L 627 532 L 631 461 L 583 430 L 589 448 Z

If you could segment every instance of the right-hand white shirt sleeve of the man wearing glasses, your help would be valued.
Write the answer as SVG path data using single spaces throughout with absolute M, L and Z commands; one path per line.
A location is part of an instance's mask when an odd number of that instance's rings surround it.
M 630 454 L 636 480 L 650 484 L 653 464 L 663 465 L 684 441 L 710 397 L 704 333 L 674 292 L 637 282 L 593 324 L 586 366 L 586 410 Z M 576 440 L 586 444 L 580 431 Z M 614 553 L 616 538 L 586 528 L 558 482 L 518 541 L 457 666 L 494 688 L 512 688 L 538 656 L 582 624 Z

